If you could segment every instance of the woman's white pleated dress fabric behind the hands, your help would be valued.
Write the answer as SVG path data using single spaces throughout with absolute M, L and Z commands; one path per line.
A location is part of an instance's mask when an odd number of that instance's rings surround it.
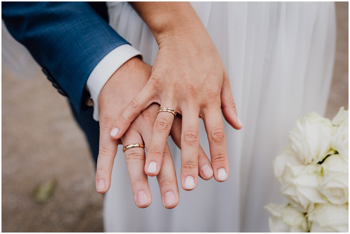
M 330 2 L 192 2 L 230 77 L 242 130 L 225 123 L 230 176 L 180 188 L 180 203 L 163 207 L 149 177 L 152 204 L 135 206 L 119 147 L 105 196 L 106 232 L 266 232 L 263 206 L 284 200 L 272 160 L 287 145 L 300 115 L 325 112 L 335 55 L 335 7 Z M 111 26 L 153 64 L 154 37 L 126 2 L 109 2 Z M 201 145 L 209 146 L 202 121 Z M 180 150 L 169 140 L 177 178 Z

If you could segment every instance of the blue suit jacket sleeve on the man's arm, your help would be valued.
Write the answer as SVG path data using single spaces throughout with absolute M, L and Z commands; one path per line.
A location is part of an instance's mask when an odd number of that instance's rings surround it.
M 2 2 L 2 19 L 80 113 L 91 71 L 128 44 L 86 2 Z

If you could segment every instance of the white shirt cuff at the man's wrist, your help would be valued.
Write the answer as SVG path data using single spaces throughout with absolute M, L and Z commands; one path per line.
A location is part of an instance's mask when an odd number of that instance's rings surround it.
M 86 87 L 90 92 L 93 100 L 93 119 L 98 121 L 98 95 L 103 86 L 107 83 L 114 72 L 120 68 L 126 61 L 141 55 L 141 52 L 129 44 L 120 45 L 116 49 L 109 52 L 92 70 L 86 81 Z

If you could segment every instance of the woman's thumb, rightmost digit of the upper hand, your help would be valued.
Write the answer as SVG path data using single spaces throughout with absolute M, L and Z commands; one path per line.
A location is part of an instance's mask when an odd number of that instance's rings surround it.
M 229 78 L 225 72 L 221 88 L 221 110 L 225 120 L 234 128 L 241 129 L 242 122 L 237 117 L 236 104 L 233 101 Z

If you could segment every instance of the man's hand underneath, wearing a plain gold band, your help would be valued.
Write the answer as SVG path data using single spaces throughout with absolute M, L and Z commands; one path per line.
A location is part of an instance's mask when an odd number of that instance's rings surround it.
M 110 188 L 112 168 L 118 144 L 126 146 L 133 143 L 144 143 L 148 150 L 147 146 L 150 145 L 153 125 L 157 118 L 158 104 L 152 104 L 142 111 L 131 123 L 121 139 L 113 140 L 110 137 L 110 129 L 127 104 L 145 86 L 151 75 L 151 69 L 151 66 L 145 64 L 139 58 L 131 58 L 112 75 L 100 92 L 98 100 L 100 142 L 96 171 L 96 189 L 99 193 L 105 193 Z M 181 125 L 180 115 L 174 121 L 171 134 L 179 148 L 181 147 Z M 197 151 L 197 157 L 200 168 L 209 165 L 212 172 L 210 161 L 202 148 Z M 142 148 L 132 148 L 125 151 L 125 161 L 135 204 L 140 208 L 145 208 L 152 202 L 147 175 L 144 171 L 145 158 L 145 150 Z M 199 175 L 205 180 L 212 178 L 212 175 L 205 177 L 201 171 Z M 167 144 L 163 150 L 163 160 L 157 179 L 163 205 L 166 208 L 175 207 L 180 199 L 179 188 L 177 186 L 173 159 Z

